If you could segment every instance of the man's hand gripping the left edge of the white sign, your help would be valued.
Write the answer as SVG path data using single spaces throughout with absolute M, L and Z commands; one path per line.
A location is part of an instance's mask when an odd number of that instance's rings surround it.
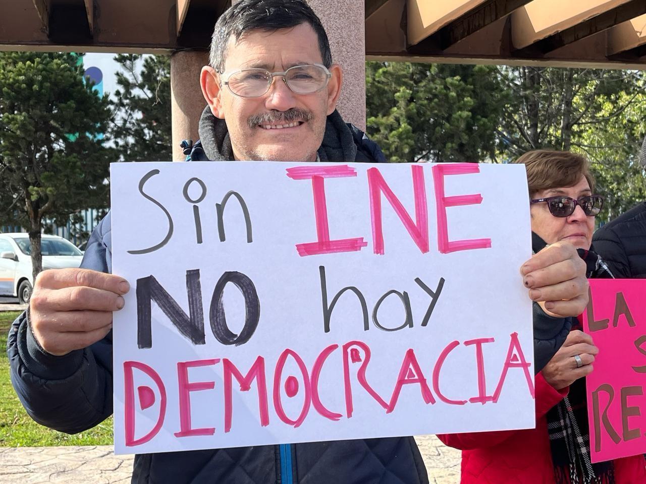
M 112 328 L 112 312 L 123 307 L 130 285 L 123 277 L 88 269 L 38 274 L 29 301 L 32 332 L 54 356 L 87 348 Z

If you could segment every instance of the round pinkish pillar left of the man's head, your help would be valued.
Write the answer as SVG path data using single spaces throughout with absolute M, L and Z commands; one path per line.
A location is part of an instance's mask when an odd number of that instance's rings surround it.
M 185 50 L 171 55 L 172 161 L 184 161 L 182 139 L 197 141 L 200 114 L 206 101 L 200 89 L 200 70 L 209 63 L 206 51 Z

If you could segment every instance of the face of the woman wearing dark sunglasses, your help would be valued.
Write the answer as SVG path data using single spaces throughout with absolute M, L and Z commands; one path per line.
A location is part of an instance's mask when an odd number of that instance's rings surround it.
M 590 185 L 584 176 L 574 187 L 559 187 L 541 190 L 532 199 L 566 196 L 574 199 L 592 195 Z M 579 205 L 569 217 L 554 217 L 550 214 L 547 203 L 532 203 L 532 232 L 548 244 L 567 241 L 576 248 L 588 250 L 592 244 L 594 216 L 587 216 Z

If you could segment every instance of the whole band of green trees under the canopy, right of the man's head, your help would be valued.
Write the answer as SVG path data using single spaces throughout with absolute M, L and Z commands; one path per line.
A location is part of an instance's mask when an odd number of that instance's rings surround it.
M 581 152 L 606 198 L 604 221 L 646 197 L 645 84 L 643 71 L 371 62 L 368 133 L 393 162 Z

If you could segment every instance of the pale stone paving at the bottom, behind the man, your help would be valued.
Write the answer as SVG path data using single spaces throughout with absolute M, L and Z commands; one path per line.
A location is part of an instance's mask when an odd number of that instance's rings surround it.
M 460 454 L 435 436 L 416 437 L 431 484 L 457 484 Z M 129 484 L 132 456 L 111 446 L 0 447 L 0 484 Z

